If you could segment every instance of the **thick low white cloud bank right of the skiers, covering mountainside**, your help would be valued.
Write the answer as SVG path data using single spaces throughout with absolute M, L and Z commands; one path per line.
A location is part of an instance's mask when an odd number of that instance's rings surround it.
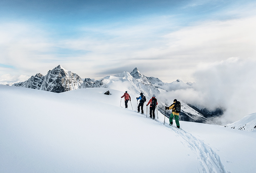
M 196 83 L 188 89 L 169 93 L 199 108 L 225 110 L 211 123 L 227 124 L 256 112 L 256 60 L 229 58 L 225 61 L 200 64 L 194 73 Z

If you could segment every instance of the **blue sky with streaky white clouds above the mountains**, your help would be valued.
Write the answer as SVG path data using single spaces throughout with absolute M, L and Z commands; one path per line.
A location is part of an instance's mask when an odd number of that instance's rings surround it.
M 1 0 L 0 82 L 59 64 L 82 78 L 137 67 L 197 82 L 209 64 L 254 63 L 255 9 L 255 0 Z

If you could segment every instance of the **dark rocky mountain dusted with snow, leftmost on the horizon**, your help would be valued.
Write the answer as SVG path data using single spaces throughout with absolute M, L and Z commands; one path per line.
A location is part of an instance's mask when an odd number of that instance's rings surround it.
M 15 83 L 13 86 L 59 93 L 78 89 L 82 83 L 81 77 L 59 65 L 53 70 L 49 70 L 46 76 L 38 73 L 27 81 Z

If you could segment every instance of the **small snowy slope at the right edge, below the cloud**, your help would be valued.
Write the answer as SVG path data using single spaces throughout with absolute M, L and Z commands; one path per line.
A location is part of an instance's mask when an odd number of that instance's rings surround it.
M 247 115 L 241 120 L 227 124 L 225 127 L 230 127 L 232 129 L 245 130 L 248 132 L 256 132 L 256 113 Z

